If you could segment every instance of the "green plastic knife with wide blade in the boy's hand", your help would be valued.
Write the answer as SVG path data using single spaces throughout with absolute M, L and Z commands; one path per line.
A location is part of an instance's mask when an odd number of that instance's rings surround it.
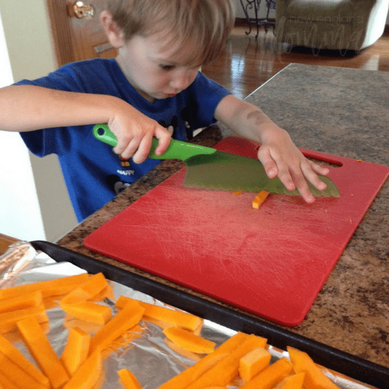
M 96 124 L 93 127 L 96 139 L 116 146 L 117 139 L 107 124 Z M 190 144 L 172 139 L 168 149 L 161 156 L 156 156 L 158 139 L 153 138 L 149 158 L 180 159 L 187 165 L 185 187 L 199 187 L 210 190 L 243 190 L 243 192 L 260 192 L 300 195 L 298 190 L 287 190 L 279 178 L 268 178 L 262 163 L 255 158 L 237 156 L 210 147 Z M 317 190 L 308 182 L 310 191 L 315 197 L 340 197 L 339 190 L 330 178 L 320 175 L 327 187 Z

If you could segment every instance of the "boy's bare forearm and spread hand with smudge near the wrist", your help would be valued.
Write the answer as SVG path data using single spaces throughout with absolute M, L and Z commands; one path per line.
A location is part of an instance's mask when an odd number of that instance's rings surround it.
M 238 136 L 262 144 L 258 158 L 269 178 L 278 175 L 288 190 L 297 187 L 306 202 L 315 201 L 306 179 L 318 190 L 325 189 L 325 183 L 317 174 L 326 175 L 328 169 L 305 158 L 291 141 L 289 134 L 255 105 L 227 95 L 217 106 L 215 118 Z

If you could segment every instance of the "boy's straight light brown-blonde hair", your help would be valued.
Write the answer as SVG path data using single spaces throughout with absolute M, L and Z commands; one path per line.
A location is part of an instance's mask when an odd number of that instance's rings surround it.
M 188 64 L 201 66 L 215 59 L 235 23 L 235 0 L 107 0 L 106 9 L 124 33 L 148 37 L 163 33 L 166 44 L 194 47 Z

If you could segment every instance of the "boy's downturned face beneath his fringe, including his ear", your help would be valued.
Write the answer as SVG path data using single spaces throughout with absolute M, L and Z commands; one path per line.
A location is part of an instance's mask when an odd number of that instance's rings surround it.
M 177 53 L 178 45 L 163 48 L 162 35 L 135 35 L 120 47 L 117 62 L 129 83 L 146 100 L 170 98 L 196 79 L 200 66 L 186 64 L 192 47 Z M 165 41 L 166 42 L 166 41 Z

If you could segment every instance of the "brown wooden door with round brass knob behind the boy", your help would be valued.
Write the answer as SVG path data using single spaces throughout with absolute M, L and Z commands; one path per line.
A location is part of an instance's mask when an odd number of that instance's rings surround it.
M 92 58 L 115 57 L 100 23 L 104 0 L 46 0 L 58 66 Z

